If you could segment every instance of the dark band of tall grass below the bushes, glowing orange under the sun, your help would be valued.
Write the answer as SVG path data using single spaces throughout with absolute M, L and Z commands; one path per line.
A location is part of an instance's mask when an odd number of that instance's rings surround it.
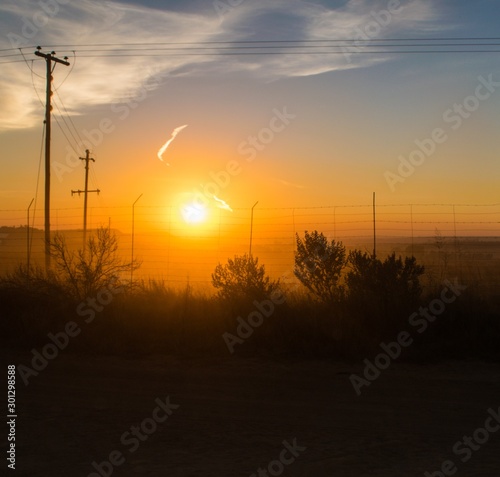
M 236 334 L 237 318 L 247 320 L 255 310 L 251 300 L 230 302 L 189 285 L 175 290 L 161 281 L 143 281 L 117 294 L 86 324 L 77 313 L 81 302 L 64 290 L 57 276 L 40 270 L 28 273 L 20 267 L 0 278 L 2 345 L 23 350 L 41 347 L 48 333 L 63 330 L 71 320 L 80 325 L 81 333 L 65 352 L 229 357 L 223 334 Z M 429 280 L 419 306 L 439 297 L 441 290 L 441 284 Z M 415 337 L 402 359 L 498 359 L 500 303 L 486 291 L 479 282 L 472 283 L 425 333 Z M 378 352 L 381 341 L 394 340 L 408 330 L 409 315 L 417 311 L 412 305 L 384 314 L 362 294 L 326 305 L 305 289 L 284 293 L 284 303 L 235 346 L 235 355 L 359 359 Z

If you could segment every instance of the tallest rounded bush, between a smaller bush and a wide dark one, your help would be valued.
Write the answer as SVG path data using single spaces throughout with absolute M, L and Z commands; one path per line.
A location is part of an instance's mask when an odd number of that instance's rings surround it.
M 342 242 L 328 239 L 317 230 L 305 232 L 304 240 L 296 234 L 297 250 L 293 273 L 301 283 L 323 302 L 331 303 L 344 296 L 339 283 L 346 265 Z

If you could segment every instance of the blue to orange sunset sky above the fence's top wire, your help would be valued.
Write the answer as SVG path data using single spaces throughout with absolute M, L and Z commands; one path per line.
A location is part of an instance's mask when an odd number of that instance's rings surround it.
M 499 14 L 496 0 L 4 0 L 0 221 L 43 202 L 38 45 L 70 63 L 53 71 L 55 209 L 81 206 L 71 190 L 86 149 L 93 205 L 143 194 L 188 222 L 203 207 L 365 204 L 373 192 L 498 203 L 500 53 L 477 50 L 500 47 L 470 39 L 497 38 Z M 430 46 L 439 39 L 455 46 Z

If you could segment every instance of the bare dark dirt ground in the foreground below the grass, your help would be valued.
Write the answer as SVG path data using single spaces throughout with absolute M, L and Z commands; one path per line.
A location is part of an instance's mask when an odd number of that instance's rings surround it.
M 18 377 L 17 468 L 4 475 L 440 476 L 446 460 L 457 476 L 500 475 L 500 431 L 470 455 L 453 451 L 499 411 L 500 365 L 394 363 L 357 396 L 349 376 L 363 367 L 61 354 L 27 387 Z M 157 423 L 167 396 L 179 407 Z M 131 440 L 141 425 L 150 434 Z M 293 459 L 284 441 L 300 448 Z M 96 473 L 110 454 L 120 464 Z

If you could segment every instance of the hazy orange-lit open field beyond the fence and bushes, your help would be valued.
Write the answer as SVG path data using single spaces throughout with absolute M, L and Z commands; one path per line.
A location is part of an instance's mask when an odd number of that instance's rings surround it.
M 131 235 L 112 229 L 119 243 L 119 254 L 124 260 L 131 257 Z M 31 263 L 44 264 L 43 231 L 35 229 L 32 235 Z M 61 230 L 72 249 L 81 248 L 81 230 Z M 89 232 L 90 233 L 90 232 Z M 299 232 L 302 234 L 302 232 Z M 274 278 L 293 281 L 295 235 L 287 238 L 266 238 L 254 244 L 254 253 Z M 0 227 L 0 273 L 12 271 L 19 263 L 27 261 L 26 227 Z M 373 250 L 373 238 L 346 237 L 338 240 L 348 250 Z M 141 262 L 135 278 L 162 280 L 176 288 L 187 282 L 199 290 L 211 290 L 211 273 L 217 263 L 228 257 L 248 252 L 245 237 L 239 240 L 214 237 L 176 237 L 167 232 L 138 234 L 135 237 L 134 256 Z M 469 281 L 481 282 L 483 287 L 500 289 L 500 238 L 498 236 L 425 236 L 413 240 L 401 236 L 383 236 L 377 240 L 377 255 L 385 257 L 395 252 L 401 256 L 414 255 L 425 265 L 428 277 L 435 281 L 461 276 Z

